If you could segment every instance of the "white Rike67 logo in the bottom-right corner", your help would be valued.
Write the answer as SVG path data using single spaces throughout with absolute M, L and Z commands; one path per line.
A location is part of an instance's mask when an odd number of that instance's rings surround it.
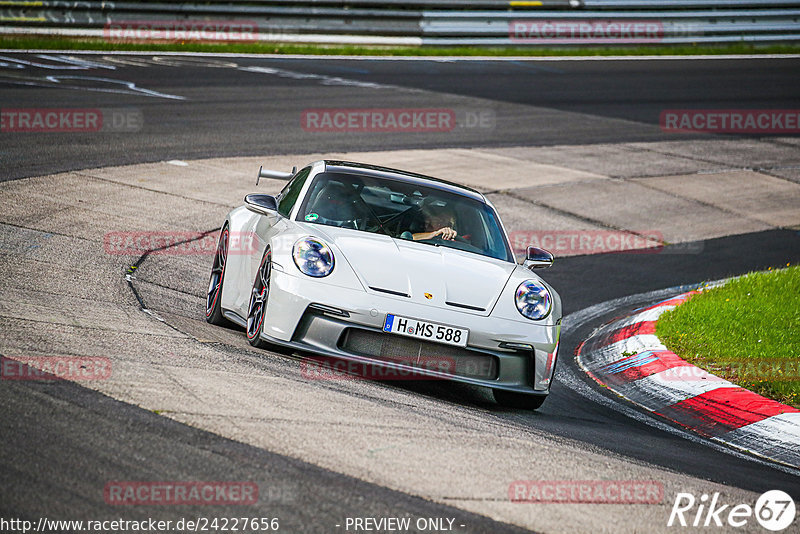
M 796 509 L 794 501 L 786 492 L 770 490 L 756 500 L 755 506 L 749 504 L 722 504 L 719 493 L 711 497 L 703 494 L 697 499 L 691 493 L 678 493 L 667 526 L 681 527 L 744 527 L 755 517 L 765 529 L 779 532 L 794 521 Z

